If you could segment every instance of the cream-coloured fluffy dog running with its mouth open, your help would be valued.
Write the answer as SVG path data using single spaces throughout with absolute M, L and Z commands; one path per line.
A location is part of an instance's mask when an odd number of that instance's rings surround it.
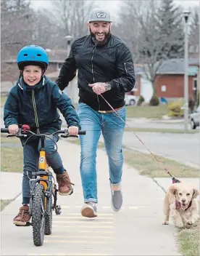
M 170 212 L 178 228 L 193 225 L 199 219 L 199 191 L 193 185 L 175 183 L 170 185 L 164 197 L 164 222 L 169 224 Z

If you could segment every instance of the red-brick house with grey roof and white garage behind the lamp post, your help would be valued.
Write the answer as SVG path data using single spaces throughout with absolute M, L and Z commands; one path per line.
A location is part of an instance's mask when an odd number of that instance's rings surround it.
M 153 95 L 151 82 L 146 79 L 142 65 L 135 65 L 136 88 L 133 94 L 143 95 L 146 102 L 149 102 Z M 167 100 L 175 100 L 184 97 L 184 59 L 165 60 L 157 71 L 156 89 L 158 97 L 165 97 Z M 188 60 L 188 96 L 196 100 L 199 81 L 199 60 Z

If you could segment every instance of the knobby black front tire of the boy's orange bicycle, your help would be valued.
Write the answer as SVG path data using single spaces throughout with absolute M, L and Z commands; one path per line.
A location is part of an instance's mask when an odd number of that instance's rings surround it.
M 39 247 L 43 245 L 45 224 L 45 217 L 42 212 L 42 207 L 44 209 L 43 185 L 40 183 L 36 184 L 32 200 L 33 243 Z

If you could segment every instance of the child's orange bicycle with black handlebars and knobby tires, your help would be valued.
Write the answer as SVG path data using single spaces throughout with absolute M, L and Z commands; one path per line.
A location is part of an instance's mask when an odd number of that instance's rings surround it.
M 9 133 L 8 128 L 1 128 L 1 132 Z M 52 211 L 56 215 L 60 215 L 61 207 L 57 205 L 57 185 L 52 172 L 49 171 L 49 165 L 46 162 L 45 140 L 46 137 L 52 140 L 54 135 L 61 135 L 61 137 L 78 137 L 69 135 L 67 129 L 58 130 L 51 134 L 36 134 L 30 131 L 30 127 L 23 124 L 19 128 L 17 135 L 8 135 L 7 137 L 30 137 L 36 136 L 41 139 L 41 149 L 39 152 L 38 172 L 32 172 L 32 178 L 29 180 L 30 184 L 30 208 L 29 213 L 32 217 L 32 223 L 27 225 L 33 226 L 33 244 L 36 246 L 43 245 L 44 235 L 50 235 L 52 231 Z M 86 135 L 86 131 L 80 130 L 78 135 Z M 25 143 L 28 142 L 26 140 Z M 55 143 L 55 142 L 54 142 Z M 55 143 L 57 146 L 57 143 Z M 57 150 L 57 148 L 56 148 Z M 52 179 L 53 178 L 53 179 Z M 53 201 L 53 198 L 54 201 Z

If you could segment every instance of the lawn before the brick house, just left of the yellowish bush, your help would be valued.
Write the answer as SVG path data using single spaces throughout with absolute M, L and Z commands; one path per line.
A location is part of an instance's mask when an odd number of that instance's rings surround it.
M 149 106 L 143 107 L 127 107 L 127 117 L 145 117 L 147 119 L 162 119 L 162 116 L 167 115 L 167 105 Z

